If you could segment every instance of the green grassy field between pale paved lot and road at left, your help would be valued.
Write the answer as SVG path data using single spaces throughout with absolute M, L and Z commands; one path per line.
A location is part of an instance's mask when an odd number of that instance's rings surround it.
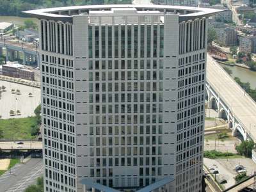
M 3 136 L 6 140 L 15 139 L 31 140 L 35 136 L 31 136 L 31 130 L 33 127 L 38 127 L 35 116 L 29 116 L 26 118 L 9 118 L 6 120 L 0 120 L 0 130 L 3 131 Z

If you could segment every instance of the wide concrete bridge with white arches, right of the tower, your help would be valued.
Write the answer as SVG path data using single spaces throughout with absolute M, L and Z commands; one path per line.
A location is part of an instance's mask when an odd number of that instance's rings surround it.
M 241 132 L 244 140 L 256 143 L 256 102 L 207 54 L 207 99 L 209 108 L 228 122 L 232 135 Z

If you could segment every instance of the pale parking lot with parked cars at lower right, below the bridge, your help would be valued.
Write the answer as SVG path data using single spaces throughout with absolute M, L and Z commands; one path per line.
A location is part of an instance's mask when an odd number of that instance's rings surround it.
M 227 184 L 222 184 L 225 189 L 236 183 L 234 177 L 236 177 L 237 172 L 234 170 L 234 166 L 240 164 L 244 170 L 247 171 L 247 175 L 252 175 L 255 170 L 255 163 L 249 158 L 228 159 L 228 161 L 227 159 L 204 158 L 204 164 L 207 168 L 218 170 L 219 174 L 216 175 L 216 180 L 218 180 L 218 182 L 223 179 L 227 180 Z M 210 172 L 213 172 L 214 170 L 211 170 Z

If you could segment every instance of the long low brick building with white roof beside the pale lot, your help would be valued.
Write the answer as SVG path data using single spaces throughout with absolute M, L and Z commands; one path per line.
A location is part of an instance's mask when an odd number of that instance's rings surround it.
M 16 77 L 21 79 L 27 79 L 33 81 L 35 79 L 35 73 L 28 70 L 19 63 L 8 62 L 3 65 L 3 76 Z

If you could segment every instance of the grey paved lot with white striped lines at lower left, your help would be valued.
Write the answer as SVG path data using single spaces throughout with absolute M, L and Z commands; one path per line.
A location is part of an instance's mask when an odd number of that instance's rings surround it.
M 0 183 L 0 192 L 24 191 L 29 185 L 36 184 L 38 177 L 43 176 L 43 167 L 42 159 L 30 159 L 28 163 L 19 167 L 17 170 L 13 170 L 12 168 L 12 174 L 9 173 L 10 176 Z M 4 174 L 8 173 L 6 172 Z M 0 177 L 0 182 L 3 176 Z

